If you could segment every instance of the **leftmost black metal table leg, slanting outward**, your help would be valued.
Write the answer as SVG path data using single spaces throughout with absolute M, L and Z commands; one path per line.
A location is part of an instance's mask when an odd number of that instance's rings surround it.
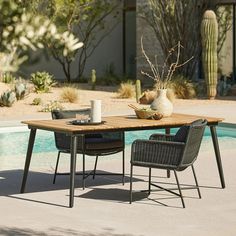
M 20 190 L 21 193 L 25 192 L 25 184 L 26 184 L 26 180 L 27 180 L 27 176 L 28 176 L 28 172 L 29 172 L 29 166 L 30 166 L 32 151 L 33 151 L 33 147 L 34 147 L 35 135 L 36 135 L 36 129 L 31 128 L 28 149 L 27 149 L 26 159 L 25 159 L 24 174 L 23 174 L 21 190 Z

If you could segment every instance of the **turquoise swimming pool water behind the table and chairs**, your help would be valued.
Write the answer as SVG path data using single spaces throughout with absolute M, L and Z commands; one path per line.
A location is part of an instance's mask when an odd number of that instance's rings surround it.
M 133 131 L 126 132 L 125 142 L 130 145 L 135 139 L 148 138 L 153 133 L 164 133 L 164 130 L 149 130 L 149 131 Z M 176 129 L 171 130 L 172 133 L 176 132 Z M 217 127 L 217 135 L 219 143 L 222 145 L 228 145 L 234 147 L 236 145 L 236 129 L 228 127 Z M 29 139 L 29 131 L 24 132 L 9 132 L 0 133 L 0 156 L 9 155 L 25 155 L 27 150 L 27 144 Z M 211 142 L 210 130 L 206 128 L 203 146 L 208 145 Z M 34 152 L 54 152 L 56 151 L 54 144 L 54 134 L 48 131 L 37 131 Z

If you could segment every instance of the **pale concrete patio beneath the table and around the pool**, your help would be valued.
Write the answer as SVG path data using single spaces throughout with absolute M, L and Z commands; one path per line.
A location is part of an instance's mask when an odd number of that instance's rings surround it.
M 219 116 L 236 123 L 235 105 L 235 101 L 229 107 L 222 102 L 215 110 L 201 104 L 197 107 L 188 104 L 178 106 L 176 112 Z M 134 193 L 135 202 L 128 203 L 130 147 L 126 149 L 127 183 L 123 186 L 120 177 L 97 176 L 95 180 L 89 178 L 87 188 L 82 190 L 81 176 L 77 176 L 72 209 L 68 208 L 69 178 L 59 176 L 53 185 L 53 166 L 38 168 L 33 165 L 25 194 L 19 194 L 23 162 L 19 163 L 19 168 L 1 168 L 0 235 L 236 235 L 236 145 L 229 148 L 220 143 L 220 148 L 226 188 L 220 187 L 213 146 L 207 150 L 202 148 L 195 165 L 202 199 L 198 199 L 196 190 L 185 190 L 185 209 L 178 197 L 163 191 L 153 192 L 148 199 L 145 193 Z M 33 159 L 46 157 L 55 163 L 56 153 L 36 154 Z M 68 170 L 69 163 L 64 158 L 61 169 Z M 77 163 L 81 170 L 81 159 Z M 87 168 L 92 165 L 93 159 L 89 159 Z M 119 154 L 101 158 L 98 163 L 98 169 L 102 171 L 120 171 L 120 167 Z M 147 170 L 135 168 L 134 173 L 134 190 L 146 189 Z M 174 183 L 173 175 L 167 179 L 164 171 L 156 170 L 154 174 L 155 181 L 168 182 L 166 186 Z M 190 171 L 180 173 L 179 177 L 182 184 L 193 183 Z

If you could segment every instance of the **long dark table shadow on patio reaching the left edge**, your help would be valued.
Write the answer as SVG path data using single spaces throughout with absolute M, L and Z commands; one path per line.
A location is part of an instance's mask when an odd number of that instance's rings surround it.
M 102 172 L 106 174 L 106 177 L 96 176 L 92 179 L 89 176 L 86 179 L 86 188 L 105 186 L 111 184 L 118 184 L 122 186 L 121 176 L 108 175 L 108 172 Z M 8 196 L 20 193 L 21 182 L 23 177 L 23 170 L 6 170 L 0 171 L 0 196 Z M 125 181 L 129 181 L 129 177 L 125 178 Z M 143 181 L 139 178 L 134 178 L 133 181 Z M 75 188 L 82 188 L 82 176 L 76 175 Z M 53 190 L 69 189 L 69 175 L 57 176 L 56 183 L 53 184 L 53 174 L 30 171 L 28 174 L 25 192 L 44 192 Z

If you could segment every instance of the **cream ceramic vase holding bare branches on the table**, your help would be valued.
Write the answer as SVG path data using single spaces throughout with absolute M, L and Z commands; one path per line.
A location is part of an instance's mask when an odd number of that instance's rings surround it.
M 159 89 L 158 96 L 151 104 L 151 109 L 162 114 L 163 117 L 171 116 L 173 112 L 173 104 L 166 96 L 167 89 Z

